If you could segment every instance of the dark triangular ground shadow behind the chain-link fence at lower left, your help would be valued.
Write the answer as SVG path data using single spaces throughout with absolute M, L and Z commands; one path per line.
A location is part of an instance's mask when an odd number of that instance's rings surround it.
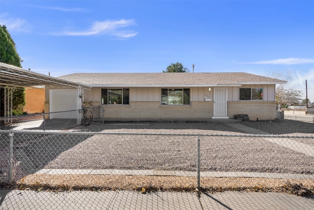
M 0 168 L 8 174 L 9 133 L 0 133 Z M 93 135 L 70 135 L 59 132 L 15 132 L 13 135 L 14 181 L 35 173 Z M 3 161 L 4 160 L 4 161 Z

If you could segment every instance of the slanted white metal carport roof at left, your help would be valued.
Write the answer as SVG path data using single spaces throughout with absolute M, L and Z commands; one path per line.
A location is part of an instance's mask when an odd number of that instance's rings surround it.
M 90 89 L 91 86 L 71 82 L 0 62 L 0 87 L 70 87 Z

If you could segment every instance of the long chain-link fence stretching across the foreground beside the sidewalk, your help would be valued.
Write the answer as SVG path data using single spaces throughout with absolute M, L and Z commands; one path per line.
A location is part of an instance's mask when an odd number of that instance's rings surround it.
M 314 136 L 309 135 L 1 131 L 0 158 L 2 186 L 88 191 L 86 203 L 100 191 L 109 202 L 114 190 L 135 190 L 128 205 L 139 202 L 137 193 L 314 191 Z M 158 209 L 157 201 L 145 205 Z

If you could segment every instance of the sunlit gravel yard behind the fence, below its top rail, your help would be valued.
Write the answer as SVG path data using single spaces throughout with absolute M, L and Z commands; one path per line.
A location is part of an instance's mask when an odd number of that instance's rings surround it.
M 43 167 L 196 171 L 196 151 L 196 136 L 94 135 Z M 314 174 L 314 157 L 263 138 L 201 137 L 201 170 Z

